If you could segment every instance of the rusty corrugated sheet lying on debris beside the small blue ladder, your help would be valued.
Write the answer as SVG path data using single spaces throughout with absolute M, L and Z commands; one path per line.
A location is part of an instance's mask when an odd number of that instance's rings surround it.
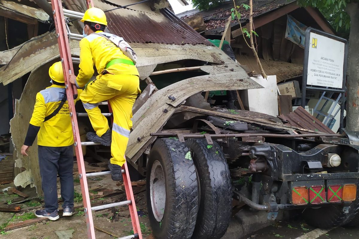
M 292 126 L 313 130 L 317 133 L 335 134 L 320 120 L 316 119 L 313 115 L 304 110 L 303 107 L 298 107 L 288 115 L 280 115 L 279 118 L 288 121 L 288 123 Z

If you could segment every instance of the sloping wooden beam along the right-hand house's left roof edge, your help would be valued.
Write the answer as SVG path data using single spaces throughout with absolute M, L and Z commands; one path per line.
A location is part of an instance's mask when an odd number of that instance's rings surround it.
M 276 9 L 274 11 L 271 11 L 270 13 L 264 14 L 263 16 L 258 16 L 255 19 L 253 19 L 253 25 L 254 28 L 259 28 L 267 23 L 270 23 L 271 21 L 274 21 L 277 18 L 280 18 L 281 16 L 284 16 L 295 9 L 298 9 L 299 5 L 297 5 L 297 2 L 290 3 L 288 5 L 285 5 L 279 9 Z M 249 29 L 249 25 L 247 24 L 246 27 Z M 241 30 L 241 29 L 239 29 Z

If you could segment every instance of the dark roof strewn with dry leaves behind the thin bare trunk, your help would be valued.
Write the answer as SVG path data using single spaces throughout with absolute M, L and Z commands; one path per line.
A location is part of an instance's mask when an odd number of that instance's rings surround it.
M 259 16 L 261 14 L 267 13 L 274 9 L 280 8 L 286 4 L 292 3 L 293 0 L 254 0 L 253 1 L 253 16 Z M 241 5 L 242 3 L 248 4 L 247 0 L 244 1 L 237 1 L 237 5 Z M 221 33 L 224 31 L 225 28 L 225 21 L 231 15 L 230 9 L 233 8 L 233 2 L 225 2 L 222 3 L 220 6 L 210 9 L 207 11 L 199 11 L 197 9 L 186 11 L 184 13 L 177 14 L 178 17 L 181 19 L 201 14 L 203 20 L 207 26 L 207 30 L 205 32 L 210 33 Z M 248 20 L 249 11 L 241 10 L 241 23 L 244 23 Z M 237 20 L 233 20 L 231 23 L 231 27 L 235 27 L 239 25 Z

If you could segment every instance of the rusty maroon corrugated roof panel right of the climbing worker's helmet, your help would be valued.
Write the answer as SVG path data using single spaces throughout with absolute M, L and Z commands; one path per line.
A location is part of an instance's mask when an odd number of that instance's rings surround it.
M 133 10 L 122 10 L 133 11 Z M 160 16 L 145 12 L 122 15 L 116 11 L 106 13 L 111 19 L 108 29 L 120 35 L 127 42 L 164 44 L 205 44 L 212 45 L 184 21 L 167 9 L 160 10 Z M 157 14 L 156 14 L 157 15 Z M 162 19 L 158 19 L 162 18 Z

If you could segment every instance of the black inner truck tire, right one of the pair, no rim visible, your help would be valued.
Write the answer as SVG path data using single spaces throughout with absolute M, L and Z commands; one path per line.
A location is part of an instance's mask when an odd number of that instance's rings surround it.
M 192 239 L 219 239 L 227 231 L 232 214 L 232 184 L 220 146 L 205 139 L 188 139 L 200 180 L 200 206 Z

